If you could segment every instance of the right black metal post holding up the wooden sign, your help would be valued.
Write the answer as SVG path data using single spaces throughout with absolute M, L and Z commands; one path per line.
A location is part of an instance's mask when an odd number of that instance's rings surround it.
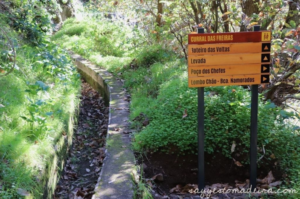
M 253 26 L 253 31 L 259 31 L 260 26 Z M 251 121 L 250 121 L 250 186 L 251 191 L 256 188 L 256 160 L 257 160 L 257 111 L 258 85 L 251 86 Z

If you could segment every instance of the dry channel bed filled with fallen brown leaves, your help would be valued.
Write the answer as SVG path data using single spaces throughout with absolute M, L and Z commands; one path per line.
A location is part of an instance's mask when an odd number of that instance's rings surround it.
M 80 99 L 78 126 L 54 199 L 91 198 L 105 157 L 108 108 L 99 93 L 85 82 Z

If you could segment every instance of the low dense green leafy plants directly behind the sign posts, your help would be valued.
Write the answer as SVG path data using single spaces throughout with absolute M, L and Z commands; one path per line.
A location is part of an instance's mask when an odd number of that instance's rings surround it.
M 165 151 L 176 147 L 178 152 L 196 153 L 197 149 L 197 92 L 187 88 L 185 77 L 164 83 L 157 99 L 145 110 L 150 124 L 135 135 L 134 149 Z M 209 90 L 219 95 L 208 96 Z M 232 90 L 234 89 L 234 90 Z M 221 152 L 231 158 L 232 142 L 236 151 L 248 162 L 250 148 L 250 94 L 238 86 L 205 88 L 205 151 Z M 187 117 L 182 118 L 187 109 Z M 278 116 L 278 109 L 259 101 L 258 144 L 264 144 L 268 154 L 274 152 L 274 134 L 291 134 Z M 136 113 L 137 114 L 137 113 Z M 279 119 L 276 119 L 280 117 Z M 159 136 L 158 136 L 159 135 Z M 280 135 L 281 136 L 281 135 Z M 279 144 L 279 143 L 278 143 Z M 280 140 L 283 145 L 283 140 Z M 277 147 L 278 148 L 278 147 Z M 285 151 L 282 151 L 285 152 Z

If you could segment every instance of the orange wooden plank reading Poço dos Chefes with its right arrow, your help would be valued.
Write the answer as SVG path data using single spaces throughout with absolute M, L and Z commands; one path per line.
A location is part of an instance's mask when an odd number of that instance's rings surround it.
M 270 64 L 238 64 L 219 66 L 190 66 L 188 77 L 208 77 L 224 75 L 246 75 L 269 73 Z

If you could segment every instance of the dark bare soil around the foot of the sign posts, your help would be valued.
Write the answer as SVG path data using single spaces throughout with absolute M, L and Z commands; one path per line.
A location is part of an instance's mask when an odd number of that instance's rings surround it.
M 236 188 L 238 185 L 245 184 L 247 187 L 247 180 L 250 177 L 249 165 L 238 166 L 232 159 L 224 157 L 222 154 L 205 154 L 205 185 L 206 188 L 214 184 L 220 183 L 222 185 L 232 186 Z M 238 161 L 238 160 L 237 160 Z M 274 160 L 275 162 L 275 160 Z M 274 181 L 282 180 L 283 172 L 277 170 L 274 162 L 269 162 L 263 167 L 257 168 L 258 179 L 264 179 L 270 171 L 274 176 Z M 178 185 L 185 186 L 188 184 L 198 184 L 197 182 L 197 155 L 179 155 L 166 154 L 155 152 L 144 155 L 143 161 L 139 161 L 143 165 L 144 178 L 152 179 L 153 176 L 161 173 L 163 174 L 163 181 L 155 179 L 153 194 L 155 198 L 176 198 L 176 191 L 170 193 L 172 188 Z M 260 184 L 257 184 L 258 187 Z M 166 197 L 166 195 L 168 197 Z M 180 192 L 178 197 L 191 197 L 192 194 L 183 194 Z M 194 195 L 195 196 L 195 195 Z M 177 198 L 178 198 L 177 197 Z M 235 195 L 236 198 L 247 198 L 245 195 Z M 222 198 L 219 195 L 217 198 Z M 226 197 L 225 197 L 226 198 Z

